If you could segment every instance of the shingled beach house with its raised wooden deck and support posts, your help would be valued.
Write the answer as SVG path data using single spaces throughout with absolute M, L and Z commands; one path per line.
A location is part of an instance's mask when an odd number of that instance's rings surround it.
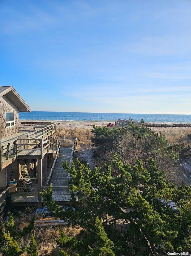
M 12 86 L 0 86 L 0 189 L 5 189 L 10 179 L 17 180 L 17 186 L 24 186 L 30 175 L 37 179 L 40 192 L 47 183 L 48 161 L 53 160 L 60 143 L 52 137 L 56 124 L 19 131 L 19 112 L 31 109 Z

